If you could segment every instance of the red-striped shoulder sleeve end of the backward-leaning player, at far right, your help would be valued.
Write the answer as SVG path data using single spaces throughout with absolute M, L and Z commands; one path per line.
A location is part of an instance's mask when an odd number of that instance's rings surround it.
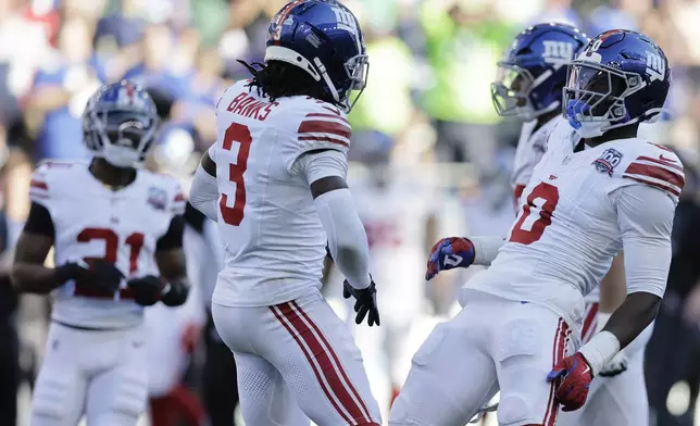
M 635 156 L 623 172 L 623 178 L 649 185 L 674 197 L 680 195 L 686 179 L 683 164 L 673 151 L 650 142 L 640 143 L 634 151 Z

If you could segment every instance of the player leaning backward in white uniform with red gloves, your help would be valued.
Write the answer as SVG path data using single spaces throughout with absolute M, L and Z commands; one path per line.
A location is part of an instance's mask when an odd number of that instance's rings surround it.
M 571 126 L 550 135 L 508 240 L 446 239 L 428 261 L 428 274 L 465 256 L 492 262 L 414 355 L 390 425 L 464 424 L 498 389 L 500 424 L 555 425 L 559 406 L 583 406 L 593 377 L 651 323 L 684 174 L 637 129 L 661 113 L 670 79 L 663 51 L 629 30 L 599 35 L 572 63 Z M 584 297 L 623 248 L 627 296 L 582 346 Z

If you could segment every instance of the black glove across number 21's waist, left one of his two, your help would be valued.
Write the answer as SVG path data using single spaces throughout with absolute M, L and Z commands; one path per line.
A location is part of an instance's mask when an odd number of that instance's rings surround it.
M 108 293 L 120 290 L 124 274 L 108 261 L 68 262 L 57 268 L 57 276 L 63 283 L 73 279 L 78 286 L 99 288 Z

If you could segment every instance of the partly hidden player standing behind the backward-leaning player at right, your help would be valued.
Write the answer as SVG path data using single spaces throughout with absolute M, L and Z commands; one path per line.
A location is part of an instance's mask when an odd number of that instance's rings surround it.
M 561 88 L 566 82 L 566 68 L 561 65 L 567 64 L 578 55 L 585 46 L 580 42 L 583 39 L 588 40 L 587 37 L 582 37 L 575 27 L 566 24 L 535 25 L 516 36 L 513 46 L 499 63 L 499 79 L 492 85 L 491 90 L 496 109 L 500 115 L 517 115 L 526 120 L 513 167 L 512 185 L 516 205 L 535 165 L 539 163 L 547 150 L 547 138 L 551 129 L 564 120 L 559 114 L 560 110 L 550 111 L 551 106 L 548 108 L 548 105 L 561 106 Z M 537 116 L 537 120 L 532 120 L 534 116 Z M 600 288 L 605 296 L 602 298 L 602 305 L 599 303 Z M 610 313 L 624 299 L 622 253 L 613 260 L 611 271 L 600 288 L 596 288 L 586 296 L 585 320 L 582 328 L 584 343 L 597 330 L 602 329 Z M 626 348 L 601 371 L 601 376 L 605 378 L 593 383 L 584 409 L 562 416 L 560 423 L 573 426 L 579 424 L 643 426 L 648 423 L 649 406 L 643 386 L 642 364 L 643 347 L 651 337 L 652 328 L 649 326 L 634 340 L 634 344 Z M 620 376 L 625 371 L 629 373 Z M 610 392 L 613 391 L 615 397 L 611 398 Z

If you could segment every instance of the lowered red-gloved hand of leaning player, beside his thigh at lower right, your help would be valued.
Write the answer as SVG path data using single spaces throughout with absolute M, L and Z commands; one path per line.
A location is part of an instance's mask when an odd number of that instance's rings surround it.
M 580 352 L 560 361 L 547 375 L 547 381 L 559 383 L 554 394 L 562 404 L 562 411 L 574 411 L 584 406 L 592 379 L 590 366 Z

